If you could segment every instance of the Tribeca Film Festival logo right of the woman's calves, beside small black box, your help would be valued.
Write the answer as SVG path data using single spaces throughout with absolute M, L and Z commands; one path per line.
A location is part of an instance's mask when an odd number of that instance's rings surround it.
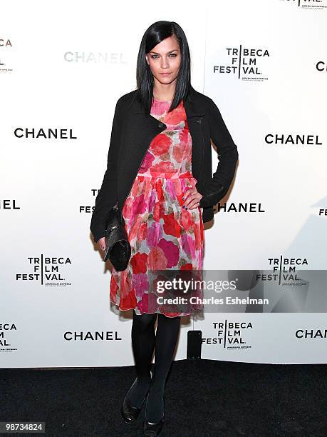
M 246 333 L 253 330 L 251 322 L 225 321 L 213 322 L 212 328 L 216 336 L 202 337 L 202 344 L 222 346 L 224 349 L 249 349 L 252 346 L 246 341 Z

